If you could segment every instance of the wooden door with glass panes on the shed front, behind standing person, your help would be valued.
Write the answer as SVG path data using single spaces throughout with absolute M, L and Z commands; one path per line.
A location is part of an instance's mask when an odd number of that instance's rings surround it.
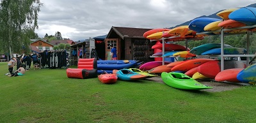
M 105 47 L 106 47 L 106 60 L 110 60 L 111 59 L 111 49 L 109 47 L 109 45 L 112 44 L 113 47 L 116 48 L 117 52 L 116 55 L 118 55 L 118 49 L 119 49 L 119 45 L 118 45 L 118 38 L 107 38 L 105 40 Z M 119 57 L 117 57 L 117 59 L 119 59 Z

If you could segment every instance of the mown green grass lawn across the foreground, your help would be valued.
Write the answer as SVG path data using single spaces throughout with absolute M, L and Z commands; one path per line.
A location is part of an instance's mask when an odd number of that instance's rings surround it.
M 66 69 L 8 77 L 0 62 L 0 122 L 256 122 L 256 87 L 185 91 L 140 80 L 107 85 Z

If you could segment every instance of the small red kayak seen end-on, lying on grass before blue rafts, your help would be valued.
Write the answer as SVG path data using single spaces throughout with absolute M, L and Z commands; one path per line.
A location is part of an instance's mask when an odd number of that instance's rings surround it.
M 101 74 L 98 78 L 102 83 L 116 83 L 117 80 L 117 76 L 112 73 Z

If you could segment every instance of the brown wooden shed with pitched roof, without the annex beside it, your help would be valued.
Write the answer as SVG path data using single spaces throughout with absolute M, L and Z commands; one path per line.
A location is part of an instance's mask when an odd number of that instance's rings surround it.
M 150 58 L 150 55 L 154 54 L 151 49 L 154 43 L 143 37 L 143 34 L 149 30 L 151 29 L 112 26 L 104 40 L 106 59 L 111 57 L 109 45 L 113 44 L 118 52 L 118 59 L 154 61 Z

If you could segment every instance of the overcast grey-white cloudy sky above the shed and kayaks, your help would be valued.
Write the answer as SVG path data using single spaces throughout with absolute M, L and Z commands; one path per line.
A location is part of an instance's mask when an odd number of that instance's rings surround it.
M 41 0 L 38 36 L 54 35 L 78 41 L 108 34 L 112 26 L 163 28 L 202 15 L 240 8 L 254 0 Z

